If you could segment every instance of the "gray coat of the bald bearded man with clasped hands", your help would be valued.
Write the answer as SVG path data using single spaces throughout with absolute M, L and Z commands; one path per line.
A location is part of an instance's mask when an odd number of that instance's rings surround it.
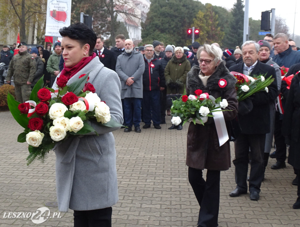
M 128 56 L 125 52 L 120 54 L 117 59 L 116 72 L 120 77 L 122 91 L 121 98 L 143 98 L 143 73 L 145 62 L 143 54 L 132 51 Z M 128 77 L 134 77 L 131 86 L 126 85 Z

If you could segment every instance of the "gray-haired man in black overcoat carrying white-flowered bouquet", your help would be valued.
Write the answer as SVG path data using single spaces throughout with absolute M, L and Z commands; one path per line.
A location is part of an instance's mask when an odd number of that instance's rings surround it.
M 277 97 L 277 80 L 275 69 L 258 61 L 259 44 L 246 41 L 242 45 L 244 64 L 234 65 L 229 71 L 239 72 L 251 77 L 261 74 L 274 78 L 268 89 L 251 95 L 239 102 L 238 123 L 240 133 L 235 141 L 235 181 L 236 189 L 229 193 L 236 197 L 247 193 L 247 172 L 249 162 L 249 147 L 251 151 L 251 170 L 249 179 L 250 199 L 258 200 L 261 182 L 263 180 L 263 155 L 265 135 L 270 132 L 270 103 Z

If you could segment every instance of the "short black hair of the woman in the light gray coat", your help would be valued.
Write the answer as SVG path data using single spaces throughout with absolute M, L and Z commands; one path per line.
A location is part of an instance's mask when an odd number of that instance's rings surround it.
M 69 27 L 63 27 L 59 29 L 59 34 L 62 37 L 69 37 L 70 39 L 77 40 L 81 46 L 84 44 L 90 45 L 90 49 L 88 51 L 88 55 L 91 56 L 93 54 L 93 49 L 96 45 L 97 35 L 83 23 L 71 24 Z

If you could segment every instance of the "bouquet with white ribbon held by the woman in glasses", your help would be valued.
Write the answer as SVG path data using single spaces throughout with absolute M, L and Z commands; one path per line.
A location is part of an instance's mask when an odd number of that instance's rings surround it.
M 208 93 L 202 93 L 202 90 L 195 91 L 196 95 L 185 95 L 177 100 L 173 100 L 171 107 L 172 123 L 179 125 L 182 121 L 184 125 L 188 120 L 192 120 L 194 124 L 198 120 L 202 125 L 207 121 L 207 117 L 214 117 L 211 113 L 216 111 L 225 111 L 221 108 L 228 106 L 227 100 L 221 100 L 221 97 L 214 100 Z M 212 100 L 213 99 L 213 100 Z

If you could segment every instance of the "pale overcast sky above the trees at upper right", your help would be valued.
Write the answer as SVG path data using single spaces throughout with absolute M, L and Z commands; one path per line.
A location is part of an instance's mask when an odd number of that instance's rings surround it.
M 222 6 L 226 9 L 231 9 L 236 0 L 199 0 L 202 4 L 210 3 L 211 5 Z M 261 19 L 261 12 L 266 10 L 275 9 L 275 15 L 286 19 L 286 24 L 289 26 L 289 32 L 292 35 L 294 29 L 294 17 L 295 20 L 295 35 L 300 35 L 299 25 L 299 13 L 300 12 L 300 1 L 298 0 L 249 0 L 249 17 L 253 20 Z M 244 1 L 245 4 L 245 1 Z

